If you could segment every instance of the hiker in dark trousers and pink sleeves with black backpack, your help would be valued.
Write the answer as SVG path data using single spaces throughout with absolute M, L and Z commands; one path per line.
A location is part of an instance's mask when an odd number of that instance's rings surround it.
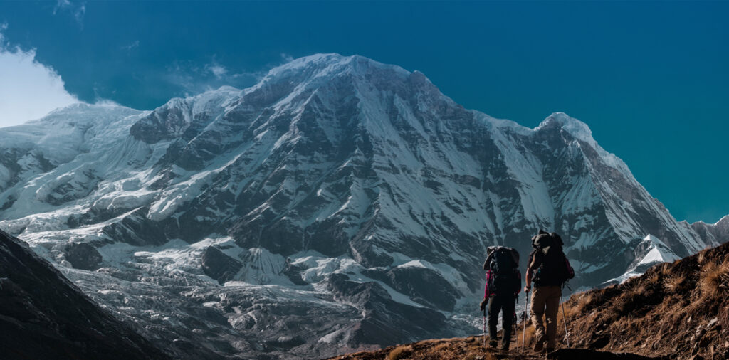
M 486 254 L 486 262 L 483 262 L 486 289 L 480 308 L 481 311 L 488 308 L 488 337 L 491 348 L 498 345 L 496 324 L 499 322 L 499 311 L 502 312 L 502 350 L 509 351 L 515 302 L 521 291 L 519 253 L 504 246 L 489 246 Z

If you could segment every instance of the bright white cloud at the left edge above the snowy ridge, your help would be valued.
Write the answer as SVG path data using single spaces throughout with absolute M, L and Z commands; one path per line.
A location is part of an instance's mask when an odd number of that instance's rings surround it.
M 61 75 L 36 60 L 34 49 L 23 50 L 7 42 L 3 34 L 7 27 L 7 23 L 0 24 L 0 127 L 38 119 L 78 102 L 66 91 Z

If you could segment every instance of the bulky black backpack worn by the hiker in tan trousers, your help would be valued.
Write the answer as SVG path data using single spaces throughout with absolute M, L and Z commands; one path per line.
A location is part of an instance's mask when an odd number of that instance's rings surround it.
M 555 232 L 539 230 L 539 234 L 531 239 L 534 251 L 530 254 L 530 262 L 534 257 L 541 262 L 534 275 L 535 286 L 561 286 L 574 278 L 574 270 L 562 251 L 563 245 L 562 238 Z

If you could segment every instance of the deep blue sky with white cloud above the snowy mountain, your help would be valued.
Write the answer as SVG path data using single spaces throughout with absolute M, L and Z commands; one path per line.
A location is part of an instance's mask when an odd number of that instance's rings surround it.
M 75 99 L 153 109 L 286 59 L 359 54 L 494 117 L 577 117 L 677 219 L 716 222 L 728 17 L 725 1 L 0 1 L 0 95 L 17 97 L 0 110 L 19 114 L 0 124 Z

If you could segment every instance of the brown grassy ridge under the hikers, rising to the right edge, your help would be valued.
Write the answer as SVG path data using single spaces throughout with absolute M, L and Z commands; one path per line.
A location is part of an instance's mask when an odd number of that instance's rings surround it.
M 561 349 L 547 359 L 729 359 L 729 243 L 650 267 L 625 283 L 574 294 L 558 316 Z M 336 359 L 544 359 L 521 352 L 523 323 L 510 353 L 482 337 L 425 340 Z M 534 328 L 526 328 L 531 348 Z

